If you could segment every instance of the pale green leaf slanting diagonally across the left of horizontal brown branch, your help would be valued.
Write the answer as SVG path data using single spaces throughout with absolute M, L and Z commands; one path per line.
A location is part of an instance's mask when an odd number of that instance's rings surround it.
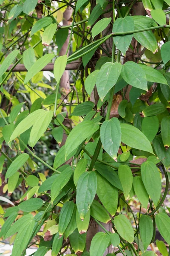
M 54 58 L 53 53 L 45 54 L 44 56 L 39 58 L 28 70 L 26 78 L 24 80 L 24 84 L 27 84 L 33 76 L 40 72 L 52 60 L 52 58 Z

